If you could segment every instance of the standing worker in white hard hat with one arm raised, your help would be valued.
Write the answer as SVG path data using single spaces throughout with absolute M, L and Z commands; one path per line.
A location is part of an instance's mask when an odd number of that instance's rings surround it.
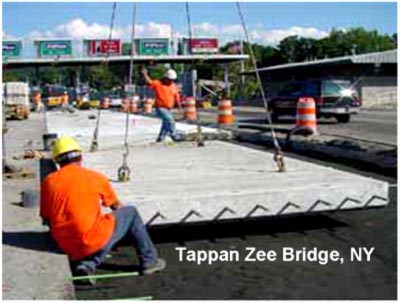
M 171 109 L 174 108 L 177 102 L 181 110 L 180 96 L 178 86 L 174 83 L 177 80 L 176 71 L 173 69 L 167 70 L 161 80 L 153 80 L 150 78 L 147 69 L 142 69 L 142 74 L 147 85 L 152 88 L 156 95 L 155 108 L 158 117 L 161 119 L 161 129 L 156 142 L 162 142 L 167 135 L 170 135 L 172 140 L 178 141 L 179 137 L 175 128 L 174 117 Z

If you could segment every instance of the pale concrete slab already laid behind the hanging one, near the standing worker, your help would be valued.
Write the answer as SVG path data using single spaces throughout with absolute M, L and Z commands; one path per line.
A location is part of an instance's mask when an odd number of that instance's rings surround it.
M 58 136 L 75 137 L 84 151 L 90 149 L 93 133 L 96 127 L 97 110 L 75 111 L 74 113 L 49 111 L 47 112 L 47 128 L 49 133 Z M 89 119 L 89 117 L 91 119 Z M 126 113 L 105 110 L 101 112 L 98 134 L 99 149 L 122 148 L 125 138 Z M 154 142 L 158 136 L 161 120 L 141 115 L 129 115 L 130 145 L 143 145 Z M 196 125 L 176 123 L 180 134 L 194 134 Z M 203 133 L 217 134 L 226 131 L 202 127 Z

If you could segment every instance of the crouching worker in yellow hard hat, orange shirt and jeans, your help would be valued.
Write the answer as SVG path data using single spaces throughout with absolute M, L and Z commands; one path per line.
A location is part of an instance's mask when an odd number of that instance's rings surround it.
M 133 242 L 143 274 L 165 268 L 137 209 L 120 204 L 104 175 L 82 167 L 82 149 L 74 139 L 58 139 L 53 159 L 60 168 L 41 184 L 40 216 L 70 258 L 74 275 L 92 275 L 124 236 Z M 99 201 L 113 212 L 103 214 Z

